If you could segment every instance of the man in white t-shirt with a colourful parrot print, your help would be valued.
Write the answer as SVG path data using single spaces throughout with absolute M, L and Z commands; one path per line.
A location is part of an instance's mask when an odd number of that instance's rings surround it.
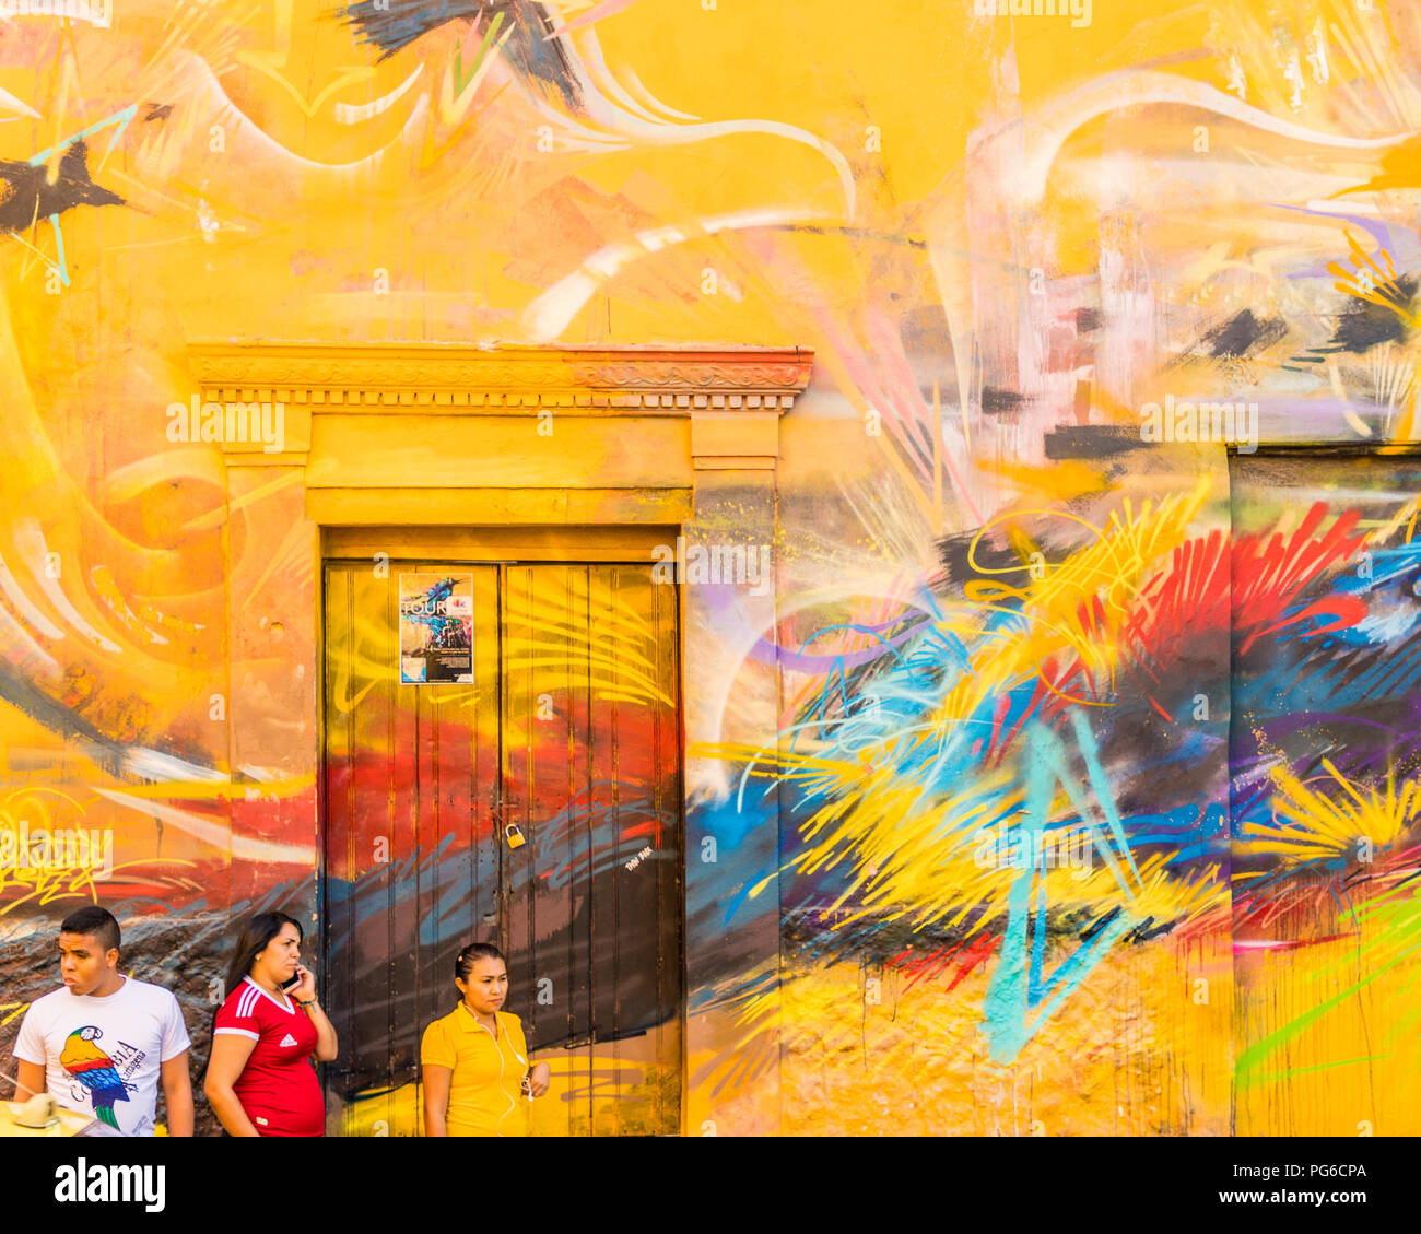
M 60 926 L 64 989 L 30 1004 L 14 1043 L 16 1100 L 48 1090 L 94 1119 L 84 1134 L 151 1136 L 158 1080 L 168 1133 L 192 1134 L 192 1042 L 182 1008 L 161 985 L 118 971 L 118 921 L 91 904 Z

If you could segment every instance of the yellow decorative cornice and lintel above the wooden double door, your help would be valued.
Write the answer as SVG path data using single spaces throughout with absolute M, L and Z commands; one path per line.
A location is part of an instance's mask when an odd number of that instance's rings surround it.
M 674 525 L 706 472 L 773 485 L 813 363 L 799 347 L 199 341 L 198 392 L 171 414 L 232 468 L 296 469 L 323 526 Z

